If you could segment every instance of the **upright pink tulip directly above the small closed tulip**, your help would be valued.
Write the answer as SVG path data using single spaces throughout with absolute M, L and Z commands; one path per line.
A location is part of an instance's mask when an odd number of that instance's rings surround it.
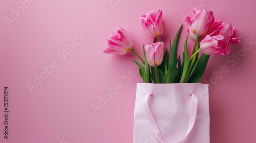
M 140 17 L 142 27 L 151 38 L 158 38 L 163 34 L 162 15 L 162 10 L 158 10 L 158 12 L 151 11 Z

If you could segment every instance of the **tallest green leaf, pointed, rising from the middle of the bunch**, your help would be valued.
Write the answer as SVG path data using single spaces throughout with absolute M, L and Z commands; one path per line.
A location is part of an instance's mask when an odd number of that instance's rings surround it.
M 179 41 L 181 29 L 182 29 L 182 25 L 180 26 L 180 29 L 176 34 L 173 47 L 170 47 L 169 66 L 168 66 L 167 73 L 164 76 L 164 83 L 174 83 L 176 77 L 179 74 L 179 71 L 177 68 L 177 63 L 178 63 L 177 51 L 178 51 L 178 41 Z

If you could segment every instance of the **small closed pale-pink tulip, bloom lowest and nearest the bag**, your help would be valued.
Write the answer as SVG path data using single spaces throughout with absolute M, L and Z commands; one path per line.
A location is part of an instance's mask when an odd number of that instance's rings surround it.
M 164 44 L 163 42 L 148 43 L 145 45 L 145 54 L 148 64 L 157 67 L 163 62 Z

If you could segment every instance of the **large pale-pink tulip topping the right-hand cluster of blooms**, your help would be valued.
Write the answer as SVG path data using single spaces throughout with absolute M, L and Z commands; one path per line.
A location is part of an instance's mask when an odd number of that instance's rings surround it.
M 212 23 L 214 23 L 214 13 L 207 10 L 194 9 L 194 16 L 186 17 L 187 21 L 187 32 L 190 37 L 196 39 L 197 35 L 203 37 L 207 32 Z

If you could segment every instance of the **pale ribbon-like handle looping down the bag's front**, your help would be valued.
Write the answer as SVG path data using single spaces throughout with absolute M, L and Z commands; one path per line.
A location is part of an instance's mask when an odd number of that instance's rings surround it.
M 197 115 L 197 107 L 198 107 L 198 98 L 194 94 L 190 94 L 190 96 L 191 96 L 191 110 L 190 110 L 187 132 L 186 132 L 185 137 L 176 143 L 182 142 L 187 137 L 187 135 L 190 133 L 190 131 L 192 130 L 192 128 L 194 127 L 194 124 L 195 124 L 196 115 Z M 152 112 L 150 111 L 150 104 L 148 101 L 152 100 L 153 97 L 154 97 L 154 95 L 151 93 L 147 94 L 147 96 L 144 97 L 144 100 L 143 100 L 144 109 L 146 111 L 146 115 L 147 115 L 148 119 L 150 120 L 151 126 L 152 126 L 154 133 L 156 134 L 158 140 L 161 141 L 162 143 L 165 143 L 163 140 L 163 137 L 162 137 L 161 130 L 155 120 L 155 117 L 153 116 Z

